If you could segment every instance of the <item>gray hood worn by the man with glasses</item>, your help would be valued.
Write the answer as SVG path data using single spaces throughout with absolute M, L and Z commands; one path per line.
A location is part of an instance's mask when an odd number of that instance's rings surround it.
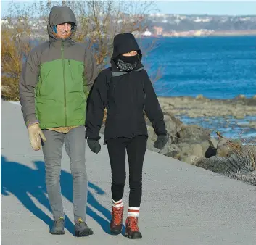
M 76 30 L 76 19 L 75 19 L 75 14 L 74 12 L 70 9 L 70 7 L 67 6 L 54 6 L 51 8 L 51 12 L 49 14 L 49 19 L 48 19 L 48 25 L 47 25 L 47 30 L 49 34 L 49 41 L 57 41 L 61 38 L 58 38 L 56 35 L 54 35 L 54 25 L 59 25 L 64 22 L 73 22 L 74 23 L 74 28 L 73 32 L 70 35 L 68 39 L 71 39 L 75 33 Z

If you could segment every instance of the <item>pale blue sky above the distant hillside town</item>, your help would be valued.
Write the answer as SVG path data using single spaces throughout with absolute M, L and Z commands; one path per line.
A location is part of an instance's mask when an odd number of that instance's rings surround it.
M 29 6 L 33 1 L 17 1 Z M 256 1 L 156 1 L 162 14 L 228 14 L 256 15 Z M 1 15 L 7 11 L 9 1 L 1 0 Z

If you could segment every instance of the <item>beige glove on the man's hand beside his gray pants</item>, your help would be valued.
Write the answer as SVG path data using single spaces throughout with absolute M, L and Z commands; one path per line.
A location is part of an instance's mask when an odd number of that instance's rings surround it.
M 33 123 L 28 126 L 28 136 L 30 145 L 32 146 L 34 151 L 38 151 L 41 149 L 41 139 L 46 141 L 44 133 L 39 127 L 38 123 Z

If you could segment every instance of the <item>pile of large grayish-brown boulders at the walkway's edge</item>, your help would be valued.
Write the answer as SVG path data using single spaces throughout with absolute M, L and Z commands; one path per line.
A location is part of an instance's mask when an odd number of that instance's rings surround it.
M 198 125 L 183 125 L 171 113 L 165 112 L 168 144 L 164 149 L 154 148 L 153 144 L 157 140 L 157 136 L 149 121 L 147 121 L 147 125 L 149 133 L 147 149 L 190 164 L 202 157 L 211 157 L 216 154 L 215 147 L 217 142 L 210 138 L 210 130 L 201 128 Z

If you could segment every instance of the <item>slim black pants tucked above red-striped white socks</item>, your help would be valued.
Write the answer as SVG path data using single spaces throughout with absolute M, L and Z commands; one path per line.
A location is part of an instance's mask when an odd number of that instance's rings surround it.
M 134 138 L 112 138 L 107 141 L 112 170 L 112 199 L 119 201 L 123 198 L 125 186 L 125 149 L 129 162 L 129 207 L 139 207 L 142 194 L 142 166 L 146 152 L 147 136 Z

